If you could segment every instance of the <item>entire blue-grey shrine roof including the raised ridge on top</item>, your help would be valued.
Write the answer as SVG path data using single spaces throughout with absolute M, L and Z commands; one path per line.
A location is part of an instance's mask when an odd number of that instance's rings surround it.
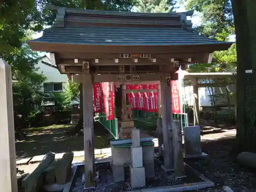
M 184 13 L 134 13 L 58 8 L 56 26 L 32 42 L 108 46 L 231 45 L 201 36 Z

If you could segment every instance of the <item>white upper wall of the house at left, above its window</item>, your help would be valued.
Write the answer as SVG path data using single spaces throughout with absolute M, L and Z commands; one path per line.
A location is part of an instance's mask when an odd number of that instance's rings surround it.
M 46 76 L 47 79 L 45 82 L 62 82 L 62 86 L 65 89 L 68 81 L 68 76 L 65 74 L 60 74 L 58 69 L 48 66 L 41 61 L 45 61 L 48 63 L 51 63 L 51 61 L 48 57 L 45 57 L 40 60 L 36 66 L 37 68 L 39 68 L 38 73 L 42 73 Z

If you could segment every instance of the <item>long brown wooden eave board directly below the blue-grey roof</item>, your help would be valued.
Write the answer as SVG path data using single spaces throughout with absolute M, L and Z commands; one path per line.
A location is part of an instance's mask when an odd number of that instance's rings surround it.
M 175 55 L 176 53 L 187 53 L 192 52 L 198 53 L 212 53 L 214 51 L 227 50 L 232 42 L 225 42 L 223 44 L 211 44 L 211 45 L 145 45 L 140 44 L 137 46 L 127 45 L 82 45 L 82 44 L 66 44 L 63 46 L 62 43 L 50 43 L 50 42 L 38 42 L 38 41 L 27 41 L 30 48 L 34 51 L 46 51 L 46 52 L 76 52 L 76 53 L 147 53 L 147 54 L 162 54 L 169 53 Z

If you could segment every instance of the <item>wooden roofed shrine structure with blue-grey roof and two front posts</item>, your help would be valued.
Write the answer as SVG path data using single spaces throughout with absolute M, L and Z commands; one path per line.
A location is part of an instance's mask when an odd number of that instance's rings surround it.
M 95 187 L 93 83 L 143 84 L 160 81 L 164 166 L 184 175 L 183 154 L 173 126 L 170 81 L 175 70 L 196 62 L 211 62 L 210 54 L 227 50 L 232 42 L 217 41 L 193 31 L 182 13 L 136 13 L 69 9 L 57 10 L 56 24 L 42 37 L 29 40 L 35 51 L 50 52 L 52 65 L 82 82 L 86 188 Z M 126 108 L 126 103 L 122 102 Z M 124 109 L 122 108 L 122 109 Z

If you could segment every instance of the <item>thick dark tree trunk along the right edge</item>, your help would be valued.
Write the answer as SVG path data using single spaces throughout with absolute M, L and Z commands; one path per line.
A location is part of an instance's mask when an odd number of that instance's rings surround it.
M 232 0 L 232 7 L 238 58 L 236 150 L 256 152 L 256 1 Z

